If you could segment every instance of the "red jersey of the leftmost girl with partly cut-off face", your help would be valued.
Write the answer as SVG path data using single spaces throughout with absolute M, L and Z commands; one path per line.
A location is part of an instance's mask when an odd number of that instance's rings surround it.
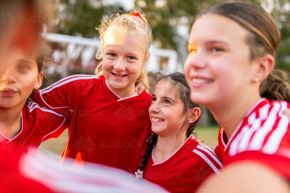
M 13 139 L 0 133 L 1 150 L 11 153 L 14 148 L 38 147 L 44 140 L 58 137 L 68 128 L 69 121 L 59 113 L 30 102 L 21 110 L 21 125 L 20 132 Z

